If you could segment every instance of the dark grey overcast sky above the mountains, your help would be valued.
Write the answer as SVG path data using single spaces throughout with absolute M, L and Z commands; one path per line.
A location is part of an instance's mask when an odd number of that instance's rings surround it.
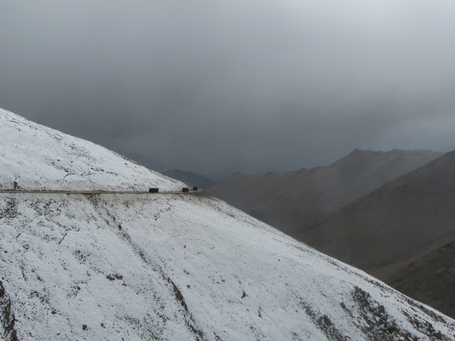
M 170 168 L 455 149 L 455 1 L 0 0 L 0 107 Z

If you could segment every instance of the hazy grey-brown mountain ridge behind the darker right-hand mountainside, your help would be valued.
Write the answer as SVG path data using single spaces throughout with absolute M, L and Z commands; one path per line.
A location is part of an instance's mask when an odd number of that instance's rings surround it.
M 302 237 L 338 208 L 441 155 L 355 150 L 331 166 L 282 175 L 231 175 L 208 192 L 287 234 Z

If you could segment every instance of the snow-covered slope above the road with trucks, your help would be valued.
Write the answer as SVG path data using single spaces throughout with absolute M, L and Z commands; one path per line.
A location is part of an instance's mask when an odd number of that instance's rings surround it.
M 0 189 L 178 190 L 183 183 L 102 146 L 0 109 Z

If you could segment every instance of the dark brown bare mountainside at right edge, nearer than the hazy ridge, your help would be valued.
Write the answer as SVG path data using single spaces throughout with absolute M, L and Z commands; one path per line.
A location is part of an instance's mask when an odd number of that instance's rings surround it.
M 455 316 L 454 208 L 451 152 L 343 207 L 305 238 Z

